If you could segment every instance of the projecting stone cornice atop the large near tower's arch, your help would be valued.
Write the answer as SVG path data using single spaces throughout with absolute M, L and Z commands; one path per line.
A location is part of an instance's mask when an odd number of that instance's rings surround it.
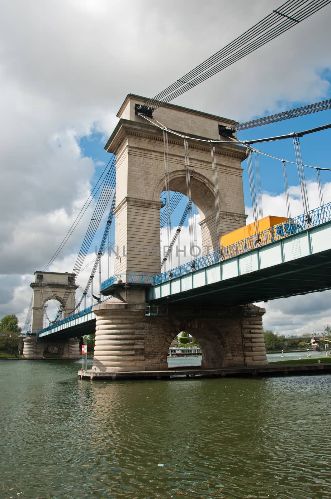
M 182 133 L 182 132 L 179 132 Z M 197 135 L 190 135 L 193 139 L 204 139 L 209 140 L 207 137 L 201 137 Z M 105 145 L 105 150 L 113 154 L 117 154 L 124 140 L 128 137 L 136 137 L 141 139 L 153 140 L 156 142 L 163 143 L 163 132 L 160 128 L 151 125 L 149 123 L 139 123 L 137 121 L 130 121 L 125 119 L 120 119 L 114 132 L 110 136 L 107 144 Z M 183 146 L 183 139 L 181 137 L 168 134 L 168 144 Z M 209 143 L 204 142 L 194 142 L 194 140 L 188 141 L 188 146 L 190 149 L 210 152 Z M 243 161 L 246 159 L 246 151 L 243 147 L 230 142 L 227 144 L 215 144 L 215 152 L 217 155 L 227 156 L 231 158 L 239 159 Z

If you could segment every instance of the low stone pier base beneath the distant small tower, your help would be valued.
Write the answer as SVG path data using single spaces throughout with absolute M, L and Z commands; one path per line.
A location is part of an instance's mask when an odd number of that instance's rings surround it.
M 35 334 L 23 339 L 22 359 L 79 359 L 79 338 L 36 341 Z

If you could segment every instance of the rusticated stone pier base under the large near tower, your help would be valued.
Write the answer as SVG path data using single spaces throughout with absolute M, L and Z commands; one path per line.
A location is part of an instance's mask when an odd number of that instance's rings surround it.
M 197 340 L 203 369 L 267 364 L 263 308 L 169 306 L 165 316 L 145 316 L 145 305 L 113 297 L 94 307 L 92 373 L 164 371 L 168 348 L 181 331 Z

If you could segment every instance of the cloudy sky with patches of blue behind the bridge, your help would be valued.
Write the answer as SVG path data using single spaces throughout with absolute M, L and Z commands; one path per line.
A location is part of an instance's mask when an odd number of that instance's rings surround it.
M 154 96 L 278 6 L 275 0 L 207 0 L 203 7 L 195 0 L 2 4 L 0 317 L 16 313 L 24 324 L 33 272 L 44 268 L 107 161 L 103 145 L 126 94 Z M 174 103 L 246 121 L 330 98 L 330 24 L 331 5 Z M 240 138 L 318 126 L 331 122 L 331 113 L 292 122 L 241 132 Z M 307 139 L 304 161 L 329 166 L 329 137 L 323 132 Z M 289 145 L 268 147 L 261 150 L 293 159 Z M 279 165 L 266 162 L 264 168 L 264 212 L 279 213 Z M 309 190 L 317 206 L 313 173 Z M 289 179 L 295 215 L 302 212 L 298 182 L 294 174 Z M 325 202 L 331 201 L 331 177 L 322 180 Z M 249 214 L 246 188 L 245 196 Z M 89 215 L 50 270 L 72 270 Z M 83 286 L 89 269 L 84 272 Z M 265 327 L 296 334 L 322 330 L 331 322 L 330 297 L 325 292 L 268 303 Z

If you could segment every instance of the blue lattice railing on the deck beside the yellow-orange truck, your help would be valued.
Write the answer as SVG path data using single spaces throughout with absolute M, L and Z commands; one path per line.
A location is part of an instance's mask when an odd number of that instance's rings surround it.
M 329 222 L 331 220 L 331 203 L 327 203 L 326 205 L 320 206 L 319 208 L 315 208 L 315 210 L 311 210 L 309 212 L 309 215 L 309 223 L 312 227 L 316 227 L 320 224 L 324 224 L 325 222 Z M 242 239 L 241 241 L 222 248 L 221 250 L 216 250 L 212 253 L 200 256 L 193 262 L 184 263 L 183 265 L 175 267 L 172 270 L 167 270 L 162 274 L 155 275 L 153 277 L 153 285 L 161 284 L 162 282 L 166 282 L 170 279 L 175 279 L 176 277 L 180 277 L 182 275 L 193 272 L 194 270 L 199 270 L 201 268 L 207 267 L 208 265 L 212 265 L 213 263 L 226 260 L 233 256 L 238 256 L 250 250 L 255 250 L 260 246 L 268 245 L 270 243 L 273 243 L 274 241 L 279 241 L 281 239 L 292 236 L 293 234 L 299 234 L 305 231 L 306 227 L 306 214 L 299 215 L 298 217 L 289 219 L 286 222 L 282 222 L 281 224 L 270 227 L 265 231 L 261 231 L 258 235 L 258 238 L 257 235 L 254 234 L 253 236 Z

